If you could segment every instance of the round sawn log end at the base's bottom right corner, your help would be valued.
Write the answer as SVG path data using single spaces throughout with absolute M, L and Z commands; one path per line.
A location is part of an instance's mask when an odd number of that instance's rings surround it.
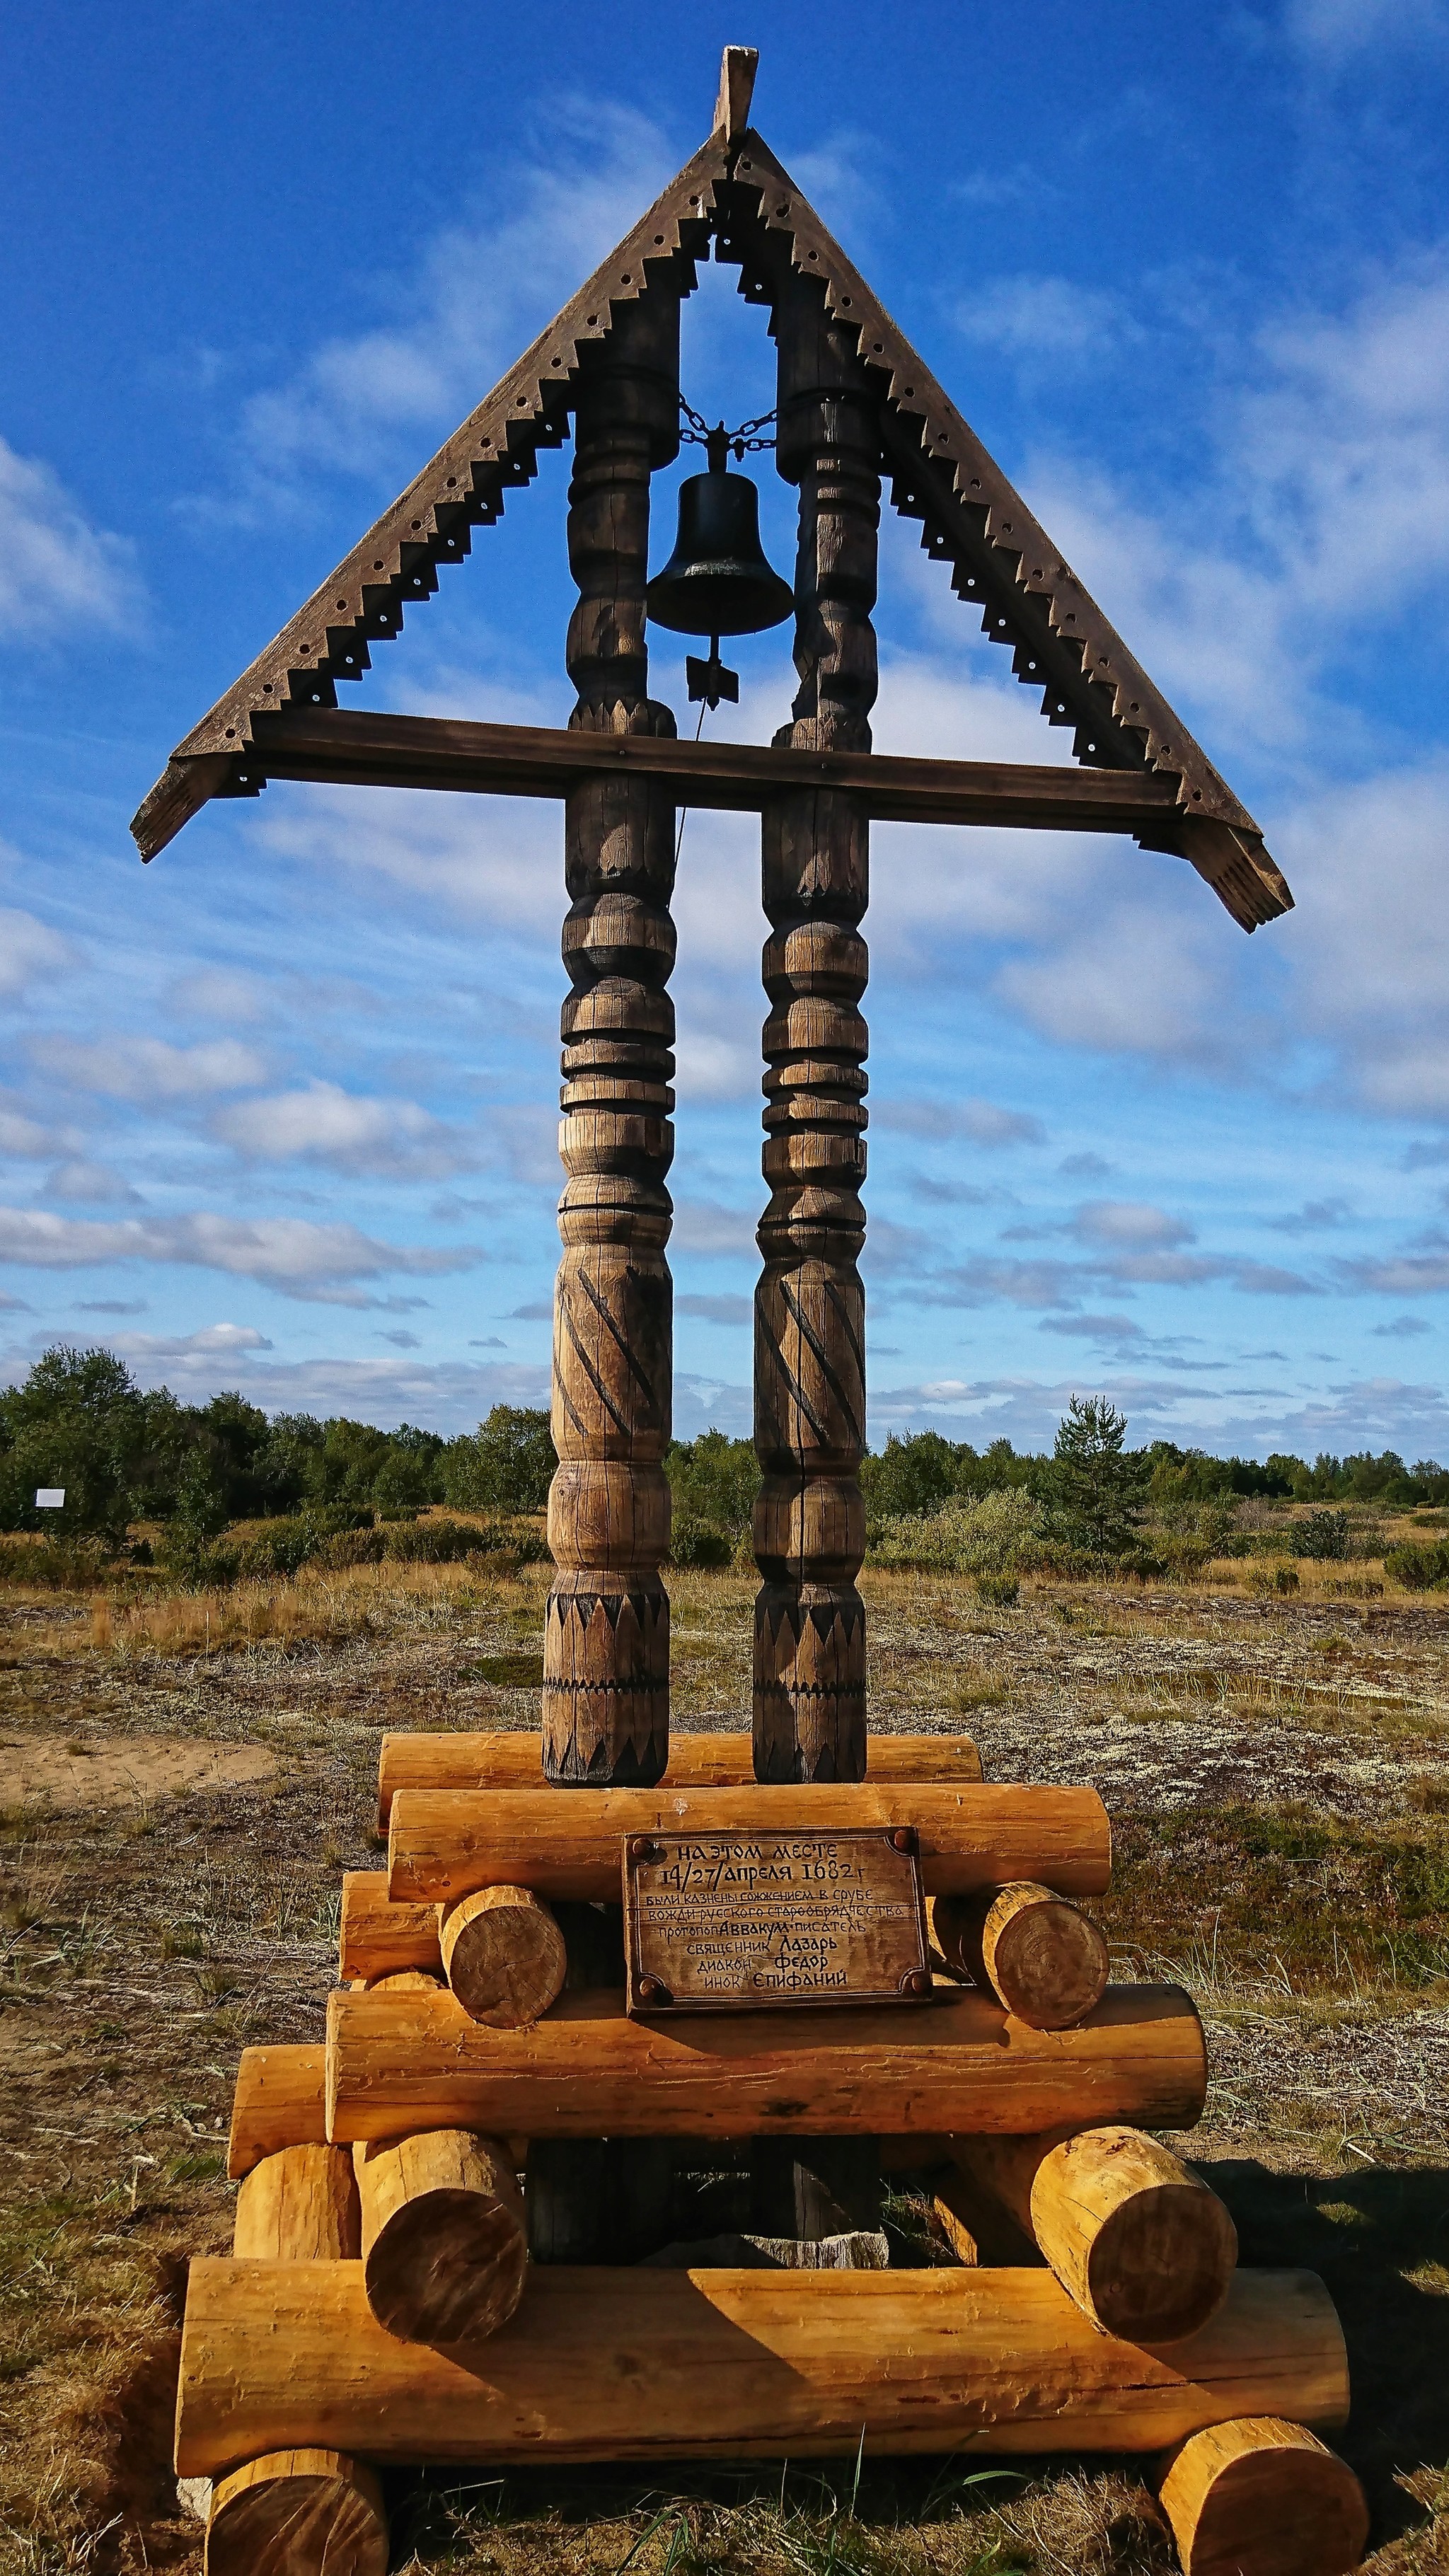
M 1183 2576 L 1346 2576 L 1369 2540 L 1348 2463 L 1276 2416 L 1191 2434 L 1163 2478 L 1163 2512 Z

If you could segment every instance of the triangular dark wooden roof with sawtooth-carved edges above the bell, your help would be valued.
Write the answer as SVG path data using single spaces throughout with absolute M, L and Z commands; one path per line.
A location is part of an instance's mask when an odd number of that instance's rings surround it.
M 614 312 L 655 286 L 694 291 L 696 260 L 714 242 L 717 260 L 740 265 L 748 301 L 773 304 L 786 263 L 822 281 L 830 314 L 856 332 L 879 384 L 892 502 L 923 523 L 926 551 L 951 567 L 954 590 L 980 608 L 990 641 L 1011 647 L 1016 677 L 1042 690 L 1047 721 L 1073 726 L 1083 765 L 1176 781 L 1181 827 L 1163 819 L 1160 837 L 1137 829 L 1137 840 L 1186 855 L 1245 930 L 1287 912 L 1292 894 L 1248 809 L 807 196 L 743 124 L 750 80 L 753 59 L 732 46 L 709 142 L 178 744 L 131 824 L 142 858 L 162 850 L 209 796 L 250 793 L 242 781 L 258 716 L 338 703 L 338 680 L 361 677 L 369 647 L 400 634 L 405 608 L 438 587 L 438 567 L 469 554 L 472 531 L 500 518 L 505 495 L 534 477 L 539 448 L 562 446 L 580 358 L 608 335 Z

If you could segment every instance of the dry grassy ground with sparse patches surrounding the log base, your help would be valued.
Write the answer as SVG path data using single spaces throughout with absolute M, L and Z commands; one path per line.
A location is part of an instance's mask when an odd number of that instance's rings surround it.
M 1209 2025 L 1191 2146 L 1245 2259 L 1325 2275 L 1377 2576 L 1449 2568 L 1449 1605 L 874 1574 L 877 1726 L 1096 1780 L 1119 1973 Z M 750 1584 L 676 1574 L 676 1723 L 748 1723 Z M 229 2244 L 237 2050 L 312 2040 L 384 1726 L 536 1723 L 544 1571 L 214 1600 L 0 1592 L 0 2566 L 196 2568 L 168 2473 L 191 2251 Z M 1168 2566 L 1140 2463 L 668 2483 L 400 2478 L 397 2563 L 472 2576 Z

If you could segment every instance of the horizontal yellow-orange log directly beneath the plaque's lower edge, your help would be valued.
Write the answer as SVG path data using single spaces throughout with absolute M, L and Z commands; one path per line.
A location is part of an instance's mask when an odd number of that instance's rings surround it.
M 451 1994 L 327 2002 L 327 2128 L 343 2141 L 1191 2128 L 1204 2094 L 1181 1986 L 1111 1986 L 1075 2030 L 1029 2030 L 946 1984 L 926 2004 L 639 2022 L 621 1994 L 580 1991 L 529 2030 L 480 2030 Z

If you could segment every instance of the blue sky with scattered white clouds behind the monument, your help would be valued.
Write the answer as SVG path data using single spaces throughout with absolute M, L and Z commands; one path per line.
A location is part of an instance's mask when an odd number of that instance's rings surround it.
M 1078 1388 L 1132 1437 L 1449 1455 L 1444 0 L 10 10 L 0 1378 L 67 1337 L 268 1409 L 544 1399 L 559 811 L 273 786 L 150 868 L 126 819 L 704 139 L 724 41 L 1299 904 L 1245 940 L 1132 842 L 877 829 L 877 1443 L 1036 1445 Z M 771 358 L 701 270 L 691 402 L 768 410 Z M 567 719 L 565 487 L 364 703 Z M 895 518 L 877 626 L 877 750 L 1065 757 Z M 737 662 L 712 726 L 768 739 L 789 629 Z M 652 688 L 683 719 L 683 639 Z M 758 824 L 688 817 L 676 914 L 688 1435 L 750 1412 Z

